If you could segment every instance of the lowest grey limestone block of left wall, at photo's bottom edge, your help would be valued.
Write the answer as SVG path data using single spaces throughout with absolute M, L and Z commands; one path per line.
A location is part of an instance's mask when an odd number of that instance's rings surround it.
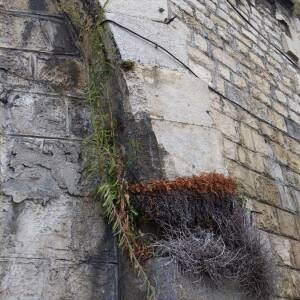
M 0 265 L 1 296 L 7 300 L 118 298 L 114 264 L 24 257 L 1 258 Z

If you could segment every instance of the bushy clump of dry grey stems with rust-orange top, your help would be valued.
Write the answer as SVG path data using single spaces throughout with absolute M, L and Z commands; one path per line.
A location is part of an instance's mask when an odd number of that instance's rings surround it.
M 156 253 L 179 270 L 221 286 L 231 281 L 251 299 L 268 299 L 271 257 L 231 179 L 205 174 L 130 187 L 136 209 L 160 228 Z M 162 187 L 162 188 L 160 188 Z

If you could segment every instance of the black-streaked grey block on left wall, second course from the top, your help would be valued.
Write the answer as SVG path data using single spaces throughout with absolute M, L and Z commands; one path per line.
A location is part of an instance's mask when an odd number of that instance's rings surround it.
M 0 46 L 50 52 L 78 53 L 64 22 L 0 14 Z

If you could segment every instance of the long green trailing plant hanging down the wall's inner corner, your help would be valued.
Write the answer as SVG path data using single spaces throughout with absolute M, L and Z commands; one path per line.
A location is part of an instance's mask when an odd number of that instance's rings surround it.
M 93 18 L 83 14 L 80 7 L 76 7 L 74 3 L 67 2 L 61 5 L 60 9 L 68 15 L 75 27 L 88 68 L 86 99 L 91 109 L 92 133 L 84 141 L 85 178 L 88 182 L 96 182 L 92 195 L 102 201 L 119 248 L 127 252 L 134 270 L 143 279 L 147 299 L 154 300 L 155 289 L 141 264 L 147 253 L 147 246 L 139 242 L 139 233 L 134 226 L 137 213 L 127 193 L 124 161 L 116 142 L 116 122 L 112 113 L 112 103 L 106 94 L 106 84 L 113 66 L 105 57 L 102 43 L 103 8 L 98 7 L 99 13 Z M 130 64 L 130 67 L 132 68 L 133 64 Z

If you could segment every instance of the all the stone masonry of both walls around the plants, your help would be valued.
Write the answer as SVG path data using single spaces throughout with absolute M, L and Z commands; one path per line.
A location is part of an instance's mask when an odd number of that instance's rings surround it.
M 89 111 L 71 27 L 54 1 L 0 4 L 0 299 L 143 299 L 82 182 Z M 273 298 L 300 299 L 300 21 L 292 2 L 110 0 L 105 16 L 197 75 L 107 23 L 108 90 L 135 156 L 130 176 L 235 178 L 276 260 Z M 125 72 L 118 66 L 128 60 L 134 68 Z M 178 278 L 164 260 L 147 268 L 159 300 L 242 297 Z

